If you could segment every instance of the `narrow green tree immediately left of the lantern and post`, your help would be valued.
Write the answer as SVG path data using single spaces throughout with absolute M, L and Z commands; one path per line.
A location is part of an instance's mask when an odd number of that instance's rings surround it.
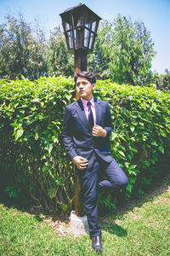
M 48 40 L 47 66 L 49 76 L 72 76 L 74 73 L 74 55 L 69 55 L 65 37 L 59 27 L 54 29 Z

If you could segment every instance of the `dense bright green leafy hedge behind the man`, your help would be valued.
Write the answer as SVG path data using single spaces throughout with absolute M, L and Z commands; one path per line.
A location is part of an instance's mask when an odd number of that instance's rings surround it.
M 73 79 L 63 77 L 0 80 L 1 195 L 70 212 L 74 168 L 60 134 L 73 87 Z M 169 164 L 170 96 L 155 87 L 109 80 L 98 81 L 94 94 L 111 105 L 111 153 L 129 178 L 122 195 L 139 195 Z M 111 194 L 99 201 L 114 207 Z

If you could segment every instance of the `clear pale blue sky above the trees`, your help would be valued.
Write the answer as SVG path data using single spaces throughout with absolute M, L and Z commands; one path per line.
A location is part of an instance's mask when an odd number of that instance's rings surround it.
M 143 21 L 155 44 L 152 71 L 170 71 L 170 0 L 0 0 L 0 24 L 6 15 L 18 18 L 21 13 L 28 23 L 37 19 L 49 35 L 54 27 L 61 26 L 59 14 L 79 3 L 85 3 L 103 20 L 113 21 L 121 14 Z

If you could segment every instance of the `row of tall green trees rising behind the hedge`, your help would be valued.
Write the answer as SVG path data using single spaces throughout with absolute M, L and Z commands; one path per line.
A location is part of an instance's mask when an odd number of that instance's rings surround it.
M 144 22 L 117 15 L 99 25 L 94 51 L 88 55 L 88 70 L 99 79 L 118 84 L 156 84 L 170 90 L 170 72 L 151 71 L 156 55 L 154 42 Z M 8 15 L 0 24 L 0 79 L 39 79 L 42 76 L 69 77 L 74 72 L 74 55 L 67 52 L 65 37 L 59 27 L 47 39 L 41 26 L 28 24 L 23 16 Z

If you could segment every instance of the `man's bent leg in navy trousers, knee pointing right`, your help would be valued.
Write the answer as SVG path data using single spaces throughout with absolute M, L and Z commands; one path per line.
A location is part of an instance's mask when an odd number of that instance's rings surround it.
M 99 189 L 118 189 L 127 186 L 127 176 L 122 171 L 122 168 L 118 166 L 116 160 L 113 159 L 110 164 L 103 162 L 101 166 L 105 169 L 105 174 L 109 180 L 100 181 L 98 184 Z

